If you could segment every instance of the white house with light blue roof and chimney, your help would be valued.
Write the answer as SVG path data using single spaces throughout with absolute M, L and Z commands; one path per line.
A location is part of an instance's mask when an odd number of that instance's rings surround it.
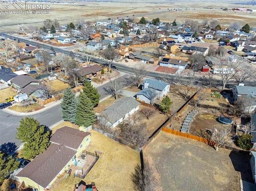
M 151 104 L 156 97 L 164 97 L 170 91 L 170 84 L 153 80 L 146 79 L 142 83 L 142 90 L 136 93 L 135 97 L 137 100 Z

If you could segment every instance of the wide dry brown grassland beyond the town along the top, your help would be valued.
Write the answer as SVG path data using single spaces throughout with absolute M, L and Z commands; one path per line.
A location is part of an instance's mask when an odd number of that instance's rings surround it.
M 179 2 L 169 2 L 163 0 L 155 3 L 153 0 L 144 2 L 136 2 L 134 0 L 111 2 L 75 2 L 74 4 L 50 4 L 49 14 L 1 14 L 1 31 L 18 30 L 20 26 L 37 26 L 40 28 L 45 19 L 57 19 L 61 25 L 69 22 L 74 24 L 78 20 L 96 22 L 98 20 L 108 20 L 108 18 L 132 18 L 135 21 L 140 20 L 144 16 L 147 20 L 160 18 L 160 21 L 177 22 L 184 21 L 189 18 L 192 20 L 217 19 L 221 25 L 229 25 L 231 22 L 239 21 L 241 24 L 255 25 L 254 19 L 256 12 L 232 12 L 223 11 L 221 8 L 241 8 L 242 5 L 232 4 L 241 2 L 238 0 L 214 0 L 212 2 L 206 0 L 195 0 Z M 28 2 L 27 2 L 28 3 Z M 0 2 L 0 7 L 9 3 Z M 28 3 L 33 4 L 33 3 Z M 34 3 L 35 4 L 35 3 Z M 205 9 L 207 7 L 208 9 Z M 172 9 L 182 9 L 182 11 L 174 12 Z M 190 10 L 184 10 L 189 8 Z M 255 9 L 255 6 L 246 6 L 247 9 Z M 169 12 L 170 10 L 170 12 Z M 11 20 L 10 20 L 11 16 Z M 255 26 L 254 26 L 255 27 Z

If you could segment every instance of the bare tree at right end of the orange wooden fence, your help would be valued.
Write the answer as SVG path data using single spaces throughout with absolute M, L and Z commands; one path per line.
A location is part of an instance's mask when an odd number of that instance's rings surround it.
M 231 128 L 222 127 L 220 132 L 215 132 L 212 134 L 212 140 L 216 143 L 216 151 L 218 151 L 218 147 L 223 147 L 225 144 L 231 142 L 230 138 Z

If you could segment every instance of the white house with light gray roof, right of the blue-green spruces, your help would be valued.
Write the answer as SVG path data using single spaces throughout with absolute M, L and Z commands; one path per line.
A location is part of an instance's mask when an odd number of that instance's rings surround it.
M 140 103 L 132 97 L 121 97 L 98 115 L 98 122 L 114 128 L 139 110 Z

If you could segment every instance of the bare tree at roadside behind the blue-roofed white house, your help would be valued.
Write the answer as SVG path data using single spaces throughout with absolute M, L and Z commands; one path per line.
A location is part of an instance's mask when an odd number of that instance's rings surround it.
M 128 81 L 136 87 L 139 87 L 140 84 L 144 81 L 144 77 L 147 75 L 148 71 L 144 66 L 140 66 L 139 68 L 133 69 L 133 74 L 128 79 Z

